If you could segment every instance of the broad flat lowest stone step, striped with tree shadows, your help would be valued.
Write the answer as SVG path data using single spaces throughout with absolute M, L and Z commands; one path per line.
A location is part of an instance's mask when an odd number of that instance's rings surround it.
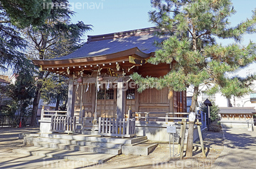
M 110 158 L 116 155 L 107 153 L 90 153 L 84 151 L 69 151 L 69 150 L 59 150 L 57 148 L 45 148 L 45 147 L 23 147 L 13 150 L 14 153 L 33 155 L 33 156 L 43 156 L 50 158 L 60 158 L 72 161 L 83 161 L 87 165 L 92 165 L 95 163 L 104 163 Z

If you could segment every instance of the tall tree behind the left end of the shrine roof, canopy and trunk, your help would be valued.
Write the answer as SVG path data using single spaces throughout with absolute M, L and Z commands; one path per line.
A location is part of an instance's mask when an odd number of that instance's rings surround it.
M 68 1 L 53 0 L 53 6 L 49 7 L 50 15 L 46 18 L 45 23 L 43 25 L 31 26 L 23 31 L 24 36 L 30 42 L 29 58 L 50 59 L 63 56 L 63 54 L 70 54 L 74 49 L 77 49 L 82 35 L 86 31 L 91 30 L 91 25 L 85 25 L 82 21 L 76 24 L 70 23 L 70 16 L 73 15 L 73 11 L 70 11 L 68 7 L 60 8 L 58 5 L 68 6 Z M 63 50 L 57 49 L 57 47 L 63 47 Z M 31 126 L 36 126 L 36 113 L 41 96 L 41 87 L 48 75 L 44 71 L 38 73 Z

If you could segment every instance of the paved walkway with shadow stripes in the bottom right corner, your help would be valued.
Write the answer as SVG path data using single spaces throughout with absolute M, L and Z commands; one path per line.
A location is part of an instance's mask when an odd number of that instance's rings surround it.
M 255 168 L 256 131 L 224 129 L 225 148 L 213 163 L 213 169 Z

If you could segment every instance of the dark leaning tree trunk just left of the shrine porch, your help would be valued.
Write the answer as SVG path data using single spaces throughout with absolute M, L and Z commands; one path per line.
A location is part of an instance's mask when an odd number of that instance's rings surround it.
M 31 127 L 37 127 L 36 117 L 37 117 L 38 105 L 39 105 L 39 100 L 40 100 L 40 95 L 41 95 L 40 90 L 42 88 L 42 83 L 40 81 L 43 79 L 43 74 L 44 74 L 44 72 L 41 71 L 38 76 L 38 84 L 37 84 L 37 88 L 36 88 L 35 98 L 33 100 Z

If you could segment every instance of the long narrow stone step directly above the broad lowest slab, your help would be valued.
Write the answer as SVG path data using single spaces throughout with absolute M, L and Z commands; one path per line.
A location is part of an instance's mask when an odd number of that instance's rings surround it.
M 78 146 L 78 145 L 70 145 L 63 143 L 54 143 L 54 142 L 35 142 L 34 146 L 44 147 L 44 148 L 58 148 L 60 150 L 71 150 L 71 151 L 85 151 L 92 153 L 110 153 L 114 155 L 120 154 L 121 148 L 105 148 L 105 147 L 97 147 L 97 146 Z

